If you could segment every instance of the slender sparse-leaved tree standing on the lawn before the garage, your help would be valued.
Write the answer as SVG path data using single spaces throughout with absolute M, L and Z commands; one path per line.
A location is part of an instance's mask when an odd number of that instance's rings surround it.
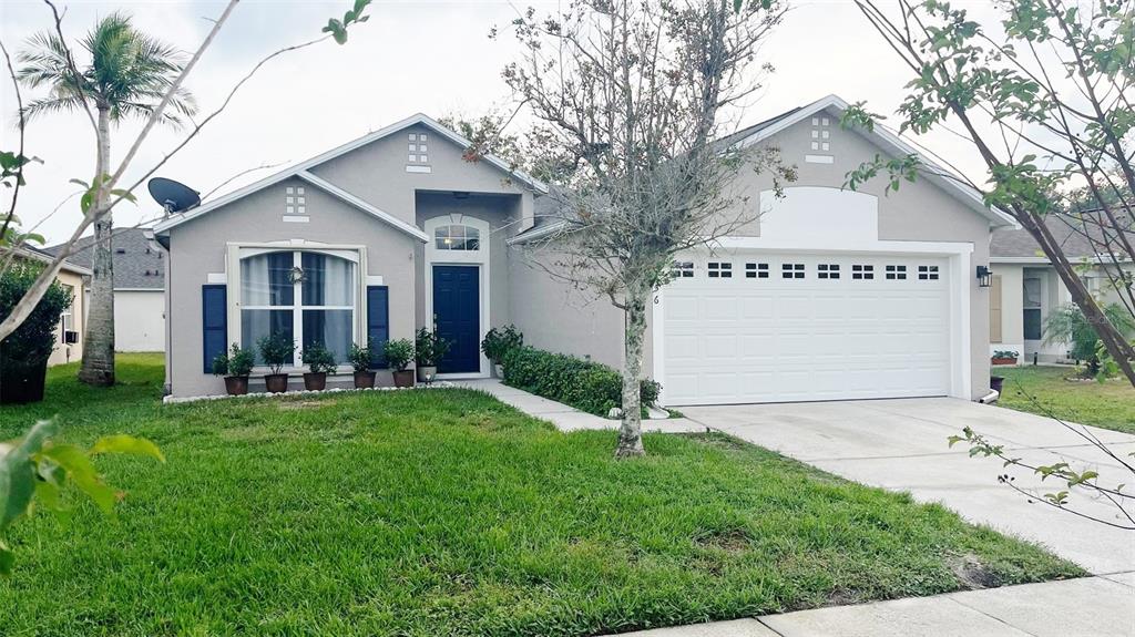
M 753 220 L 734 205 L 740 171 L 788 176 L 775 152 L 716 143 L 722 113 L 760 88 L 771 67 L 756 50 L 783 15 L 771 1 L 575 0 L 512 24 L 522 54 L 504 78 L 537 122 L 526 145 L 557 204 L 529 255 L 624 315 L 619 457 L 645 453 L 647 308 L 675 255 Z

